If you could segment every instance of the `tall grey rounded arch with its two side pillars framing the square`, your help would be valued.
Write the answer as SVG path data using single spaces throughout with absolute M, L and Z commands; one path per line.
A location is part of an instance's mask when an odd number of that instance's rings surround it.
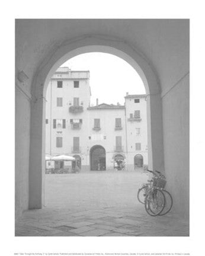
M 29 208 L 40 209 L 44 204 L 45 168 L 45 95 L 56 69 L 71 57 L 88 52 L 103 52 L 126 60 L 142 78 L 146 89 L 148 116 L 149 168 L 164 171 L 162 104 L 159 80 L 149 60 L 124 39 L 104 35 L 85 35 L 64 41 L 47 54 L 37 69 L 31 87 L 31 133 L 29 169 Z

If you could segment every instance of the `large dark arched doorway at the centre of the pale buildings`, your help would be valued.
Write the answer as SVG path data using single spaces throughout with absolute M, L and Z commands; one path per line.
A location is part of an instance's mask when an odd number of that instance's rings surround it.
M 93 146 L 89 151 L 89 159 L 91 171 L 104 171 L 106 169 L 106 153 L 102 146 Z

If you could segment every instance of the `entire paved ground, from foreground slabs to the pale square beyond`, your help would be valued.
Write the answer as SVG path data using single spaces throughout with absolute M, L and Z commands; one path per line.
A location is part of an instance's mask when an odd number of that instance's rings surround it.
M 142 172 L 46 175 L 46 207 L 28 210 L 16 236 L 188 236 L 174 212 L 149 216 L 136 200 Z

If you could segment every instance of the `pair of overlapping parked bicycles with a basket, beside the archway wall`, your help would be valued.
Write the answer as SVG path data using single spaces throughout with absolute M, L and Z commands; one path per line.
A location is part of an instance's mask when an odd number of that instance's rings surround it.
M 140 203 L 145 204 L 146 212 L 148 212 L 151 216 L 157 216 L 157 215 L 165 215 L 168 213 L 173 204 L 172 196 L 171 194 L 164 189 L 166 185 L 166 178 L 161 172 L 159 171 L 150 171 L 146 169 L 146 171 L 149 171 L 152 173 L 153 178 L 152 180 L 148 180 L 148 183 L 145 183 L 142 185 L 142 188 L 139 188 L 137 193 L 137 199 Z M 164 195 L 162 196 L 161 193 Z M 161 204 L 161 210 L 156 212 L 151 206 L 153 204 L 154 199 L 150 200 L 152 197 L 156 197 L 156 194 L 158 194 L 158 204 Z M 157 198 L 157 197 L 156 197 Z M 164 203 L 163 203 L 163 199 Z M 156 201 L 157 199 L 155 199 Z M 159 203 L 159 201 L 161 203 Z M 162 205 L 164 206 L 162 207 Z M 160 207 L 158 207 L 160 209 Z M 163 208 L 163 209 L 162 209 Z

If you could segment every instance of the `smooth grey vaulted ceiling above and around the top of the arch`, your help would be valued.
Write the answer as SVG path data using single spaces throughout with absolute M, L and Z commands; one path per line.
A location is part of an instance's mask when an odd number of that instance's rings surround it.
M 42 60 L 63 41 L 85 34 L 118 37 L 149 60 L 163 92 L 189 70 L 188 30 L 188 20 L 16 20 L 16 64 L 29 87 Z

